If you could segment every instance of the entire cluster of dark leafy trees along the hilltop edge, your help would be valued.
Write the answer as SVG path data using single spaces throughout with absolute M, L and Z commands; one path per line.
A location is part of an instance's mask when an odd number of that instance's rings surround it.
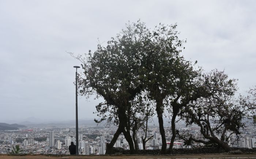
M 238 136 L 245 128 L 242 119 L 256 121 L 255 88 L 248 91 L 248 96 L 236 97 L 236 79 L 229 79 L 224 71 L 217 69 L 205 72 L 197 67 L 197 61 L 185 60 L 181 52 L 186 41 L 178 38 L 176 27 L 176 24 L 160 23 L 150 29 L 140 21 L 128 23 L 105 46 L 99 43 L 96 51 L 79 56 L 70 53 L 82 63 L 83 73 L 78 80 L 80 94 L 104 99 L 96 106 L 95 122 L 107 121 L 117 126 L 106 146 L 106 154 L 112 154 L 121 133 L 131 154 L 136 153 L 137 131 L 141 129 L 147 134 L 147 124 L 154 115 L 158 117 L 162 154 L 172 152 L 176 137 L 186 145 L 214 143 L 231 151 L 227 132 Z M 171 116 L 172 137 L 168 150 L 163 127 L 165 111 Z M 199 126 L 201 136 L 179 132 L 178 120 L 183 120 L 188 127 Z M 221 139 L 217 138 L 218 134 Z M 145 148 L 153 136 L 140 137 Z

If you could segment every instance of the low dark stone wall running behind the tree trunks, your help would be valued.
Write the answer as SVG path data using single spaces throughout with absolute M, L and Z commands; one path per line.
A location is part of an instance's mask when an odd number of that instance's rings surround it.
M 231 147 L 233 151 L 240 150 L 243 153 L 254 152 L 256 153 L 256 148 L 240 148 Z M 123 150 L 122 148 L 114 148 L 114 154 L 129 154 L 129 150 Z M 172 154 L 216 154 L 225 152 L 222 148 L 217 147 L 200 147 L 200 148 L 178 148 L 173 149 Z M 138 150 L 136 154 L 140 155 L 159 155 L 161 150 Z

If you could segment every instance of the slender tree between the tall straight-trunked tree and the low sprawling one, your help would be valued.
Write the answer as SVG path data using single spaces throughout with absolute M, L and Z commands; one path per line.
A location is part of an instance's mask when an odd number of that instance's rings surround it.
M 167 110 L 171 114 L 171 130 L 172 138 L 168 153 L 173 148 L 174 139 L 176 138 L 176 119 L 181 110 L 191 101 L 197 100 L 202 96 L 206 96 L 201 86 L 201 69 L 195 69 L 190 61 L 180 60 L 179 69 L 176 69 L 176 82 L 173 86 L 174 94 L 169 94 L 166 99 Z

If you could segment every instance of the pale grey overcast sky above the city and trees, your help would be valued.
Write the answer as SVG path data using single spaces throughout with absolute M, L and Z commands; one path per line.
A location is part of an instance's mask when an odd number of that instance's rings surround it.
M 0 122 L 75 119 L 75 69 L 66 51 L 94 51 L 128 20 L 177 23 L 182 55 L 206 71 L 225 69 L 240 92 L 256 85 L 256 1 L 0 0 Z M 79 118 L 94 118 L 79 97 Z M 33 121 L 32 121 L 33 122 Z

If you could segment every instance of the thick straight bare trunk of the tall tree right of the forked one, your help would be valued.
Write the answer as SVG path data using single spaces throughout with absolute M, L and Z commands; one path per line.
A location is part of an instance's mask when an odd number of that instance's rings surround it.
M 158 123 L 159 123 L 159 131 L 162 136 L 162 149 L 161 154 L 166 154 L 166 138 L 165 138 L 165 129 L 163 128 L 163 107 L 162 104 L 163 100 L 157 101 L 156 111 L 158 116 Z

